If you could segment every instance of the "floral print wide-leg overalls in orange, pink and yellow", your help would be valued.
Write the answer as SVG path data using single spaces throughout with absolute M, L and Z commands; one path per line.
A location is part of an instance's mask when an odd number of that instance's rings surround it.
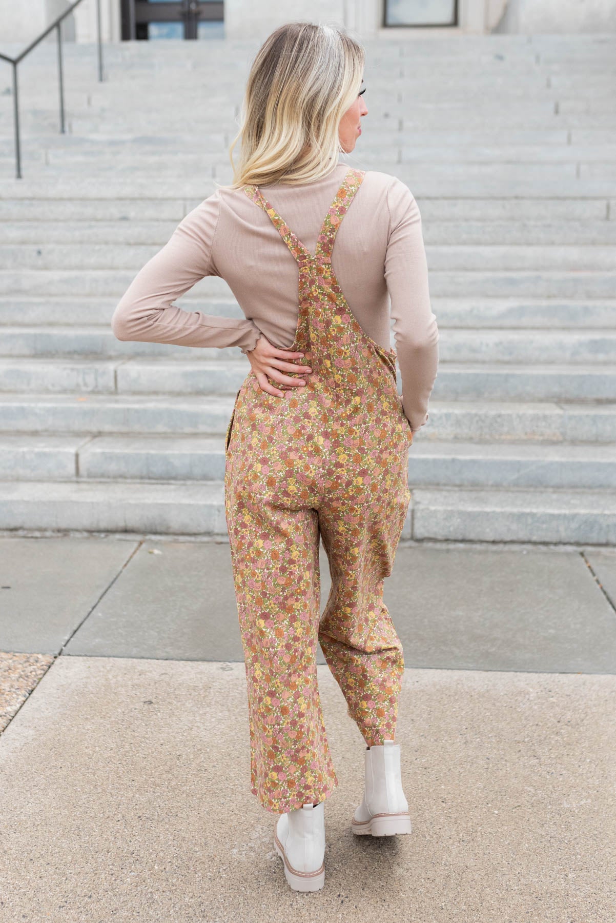
M 404 659 L 383 602 L 409 508 L 412 433 L 396 351 L 353 317 L 332 247 L 364 172 L 349 168 L 314 256 L 257 186 L 299 263 L 299 318 L 288 347 L 311 366 L 279 397 L 251 370 L 225 440 L 225 513 L 248 687 L 251 791 L 283 813 L 323 801 L 338 778 L 316 675 L 317 639 L 366 744 L 394 739 Z M 286 373 L 297 377 L 302 373 Z M 331 591 L 320 616 L 319 535 Z

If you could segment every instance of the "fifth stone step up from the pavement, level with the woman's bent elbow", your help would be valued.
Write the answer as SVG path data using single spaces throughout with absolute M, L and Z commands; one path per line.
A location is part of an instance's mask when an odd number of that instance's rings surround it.
M 392 331 L 392 345 L 394 334 Z M 240 347 L 187 347 L 170 343 L 120 341 L 110 325 L 103 327 L 4 327 L 4 356 L 173 356 L 216 360 L 243 356 Z M 194 355 L 193 355 L 194 354 Z M 444 362 L 607 363 L 616 358 L 616 330 L 455 330 L 440 331 L 439 356 Z M 246 360 L 247 361 L 247 360 Z M 198 366 L 197 366 L 198 367 Z M 196 374 L 201 374 L 197 372 Z

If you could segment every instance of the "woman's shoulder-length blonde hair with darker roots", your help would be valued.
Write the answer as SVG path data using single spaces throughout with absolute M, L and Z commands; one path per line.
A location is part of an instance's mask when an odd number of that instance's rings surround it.
M 233 181 L 220 188 L 301 186 L 334 170 L 338 125 L 360 91 L 364 60 L 361 44 L 338 26 L 287 22 L 274 30 L 250 69 L 229 149 Z

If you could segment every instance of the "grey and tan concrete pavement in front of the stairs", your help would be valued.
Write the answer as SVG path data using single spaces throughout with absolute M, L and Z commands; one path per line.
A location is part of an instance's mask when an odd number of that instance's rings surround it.
M 314 894 L 248 788 L 229 545 L 6 535 L 0 562 L 2 923 L 613 923 L 614 549 L 399 545 L 413 833 L 350 833 L 363 744 L 319 655 L 339 785 Z M 321 573 L 323 608 L 323 549 Z

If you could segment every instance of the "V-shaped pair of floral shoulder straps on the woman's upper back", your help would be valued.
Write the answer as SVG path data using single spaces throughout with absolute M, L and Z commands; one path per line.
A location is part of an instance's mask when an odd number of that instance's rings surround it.
M 327 210 L 325 221 L 321 226 L 317 238 L 314 257 L 310 250 L 303 246 L 302 241 L 293 234 L 284 218 L 278 214 L 278 211 L 272 208 L 258 186 L 253 184 L 243 186 L 243 191 L 248 198 L 252 198 L 252 200 L 266 212 L 274 224 L 274 227 L 277 229 L 278 234 L 280 234 L 285 244 L 289 247 L 292 256 L 298 261 L 300 266 L 313 262 L 314 259 L 318 262 L 329 263 L 331 262 L 334 238 L 338 232 L 340 222 L 347 213 L 347 210 L 349 210 L 349 204 L 361 186 L 363 176 L 364 171 L 349 167 L 349 171 L 338 189 L 336 198 L 334 198 L 334 201 Z

